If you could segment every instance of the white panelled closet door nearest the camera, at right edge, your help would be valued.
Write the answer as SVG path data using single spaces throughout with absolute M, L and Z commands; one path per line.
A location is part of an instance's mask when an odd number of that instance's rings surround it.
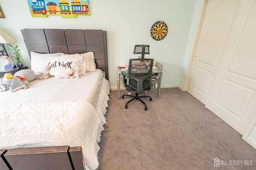
M 256 114 L 256 0 L 236 13 L 206 107 L 243 135 Z

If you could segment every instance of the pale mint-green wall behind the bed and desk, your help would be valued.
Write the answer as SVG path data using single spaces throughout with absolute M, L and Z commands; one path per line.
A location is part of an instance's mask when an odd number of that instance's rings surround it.
M 48 0 L 45 1 L 46 3 Z M 116 89 L 116 66 L 127 64 L 134 45 L 150 45 L 150 55 L 163 64 L 163 87 L 178 86 L 184 70 L 184 58 L 192 25 L 196 0 L 89 0 L 91 16 L 77 18 L 33 18 L 27 0 L 1 1 L 5 18 L 0 18 L 0 28 L 18 40 L 22 62 L 30 67 L 30 58 L 20 29 L 103 29 L 108 33 L 108 58 L 110 86 Z M 156 21 L 168 25 L 168 35 L 161 41 L 150 36 Z M 9 50 L 9 55 L 12 54 Z M 187 59 L 186 59 L 187 60 Z M 154 62 L 154 63 L 155 63 Z M 186 62 L 186 61 L 185 61 Z

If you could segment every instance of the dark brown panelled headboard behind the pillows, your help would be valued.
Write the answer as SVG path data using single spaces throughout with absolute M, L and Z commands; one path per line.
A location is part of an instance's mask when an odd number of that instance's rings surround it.
M 93 29 L 22 29 L 28 53 L 82 54 L 93 51 L 108 80 L 107 32 Z

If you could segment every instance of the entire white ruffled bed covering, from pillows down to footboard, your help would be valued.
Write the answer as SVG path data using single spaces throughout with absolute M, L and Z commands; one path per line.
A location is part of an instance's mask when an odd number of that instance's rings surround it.
M 34 80 L 26 90 L 1 92 L 0 149 L 82 146 L 86 166 L 96 169 L 108 94 L 101 70 L 79 79 Z

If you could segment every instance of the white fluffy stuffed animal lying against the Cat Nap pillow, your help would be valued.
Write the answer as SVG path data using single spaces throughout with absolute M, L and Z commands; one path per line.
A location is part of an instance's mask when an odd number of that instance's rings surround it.
M 55 78 L 70 78 L 70 74 L 73 71 L 71 68 L 66 68 L 64 66 L 57 66 L 50 70 L 50 75 L 55 76 Z

